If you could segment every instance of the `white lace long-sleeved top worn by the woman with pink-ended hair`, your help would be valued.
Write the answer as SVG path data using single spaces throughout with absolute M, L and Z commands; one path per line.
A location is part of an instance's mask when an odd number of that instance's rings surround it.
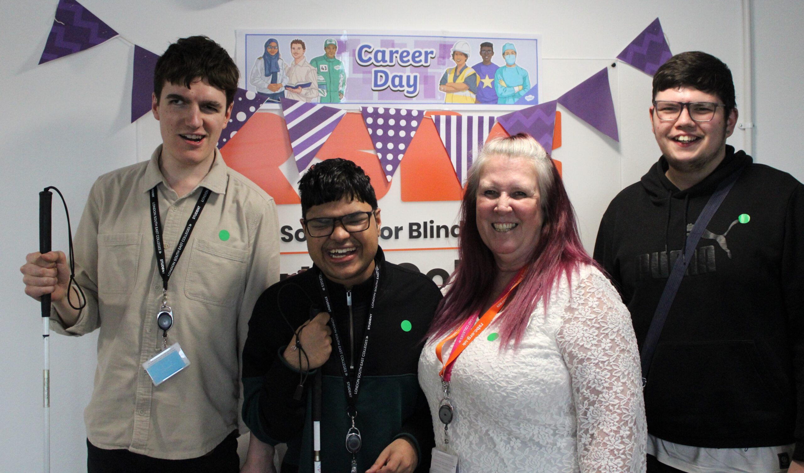
M 645 471 L 645 406 L 628 310 L 590 266 L 573 275 L 570 292 L 562 278 L 547 315 L 539 302 L 516 350 L 499 351 L 503 311 L 457 358 L 447 448 L 438 420 L 440 339 L 425 346 L 419 382 L 436 446 L 457 453 L 461 473 Z

